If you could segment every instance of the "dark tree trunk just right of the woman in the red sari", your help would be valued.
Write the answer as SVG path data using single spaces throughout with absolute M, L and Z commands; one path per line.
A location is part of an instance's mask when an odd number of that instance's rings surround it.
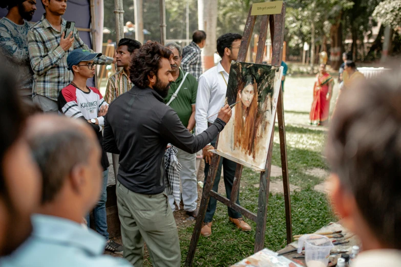
M 342 64 L 341 54 L 344 50 L 343 48 L 343 26 L 341 23 L 342 14 L 337 18 L 337 23 L 333 24 L 330 29 L 330 39 L 331 39 L 331 48 L 330 48 L 330 61 L 331 68 L 333 70 L 340 69 L 340 65 Z

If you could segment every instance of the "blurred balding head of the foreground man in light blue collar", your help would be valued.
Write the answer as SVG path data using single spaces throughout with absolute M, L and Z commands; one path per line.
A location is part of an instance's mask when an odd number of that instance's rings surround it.
M 28 142 L 43 176 L 40 213 L 77 222 L 98 202 L 101 149 L 85 121 L 38 115 L 27 123 Z

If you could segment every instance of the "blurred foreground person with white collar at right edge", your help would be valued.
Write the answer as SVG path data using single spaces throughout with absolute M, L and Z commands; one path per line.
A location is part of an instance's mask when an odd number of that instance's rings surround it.
M 331 203 L 362 242 L 352 267 L 401 266 L 400 84 L 399 69 L 355 83 L 330 122 Z

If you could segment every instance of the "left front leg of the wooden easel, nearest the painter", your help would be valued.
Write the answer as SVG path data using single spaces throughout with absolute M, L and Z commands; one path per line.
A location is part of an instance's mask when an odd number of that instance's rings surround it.
M 218 138 L 217 138 L 218 139 Z M 217 145 L 216 145 L 217 147 Z M 209 172 L 207 173 L 206 183 L 203 185 L 202 200 L 200 203 L 199 213 L 196 218 L 194 232 L 192 233 L 191 243 L 189 244 L 188 254 L 185 260 L 185 266 L 192 266 L 194 261 L 196 247 L 198 245 L 200 232 L 202 230 L 203 219 L 206 215 L 207 205 L 209 204 L 210 191 L 215 183 L 217 169 L 219 168 L 220 156 L 214 154 Z

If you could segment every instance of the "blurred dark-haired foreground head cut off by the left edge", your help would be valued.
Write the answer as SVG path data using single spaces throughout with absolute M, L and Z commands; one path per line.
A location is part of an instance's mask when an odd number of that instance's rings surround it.
M 0 68 L 0 256 L 30 235 L 30 216 L 40 198 L 40 175 L 23 136 L 26 118 L 16 84 Z

